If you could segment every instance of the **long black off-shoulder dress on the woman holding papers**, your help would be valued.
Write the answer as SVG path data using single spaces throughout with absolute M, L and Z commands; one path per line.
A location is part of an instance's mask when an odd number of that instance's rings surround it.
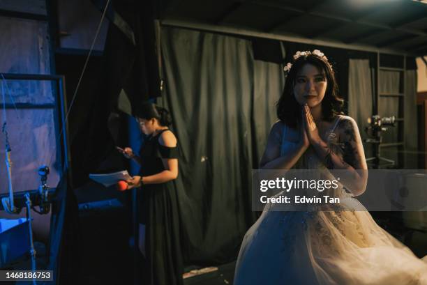
M 179 158 L 178 147 L 162 146 L 158 139 L 162 130 L 149 137 L 140 149 L 141 176 L 165 170 L 162 159 Z M 142 193 L 141 193 L 142 192 Z M 143 185 L 138 197 L 140 223 L 145 224 L 145 248 L 149 276 L 144 284 L 181 285 L 183 263 L 179 233 L 179 211 L 174 180 Z M 144 270 L 146 271 L 146 270 Z

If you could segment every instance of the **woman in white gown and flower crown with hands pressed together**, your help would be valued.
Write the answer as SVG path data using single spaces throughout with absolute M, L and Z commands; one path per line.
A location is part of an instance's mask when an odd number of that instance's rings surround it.
M 262 169 L 345 169 L 341 197 L 366 188 L 357 124 L 343 116 L 334 70 L 320 51 L 297 52 L 277 105 Z M 349 198 L 350 197 L 350 198 Z M 267 204 L 246 233 L 235 285 L 427 285 L 427 263 L 378 226 L 367 210 L 283 212 Z M 353 206 L 352 206 L 353 207 Z M 361 204 L 356 208 L 363 208 Z

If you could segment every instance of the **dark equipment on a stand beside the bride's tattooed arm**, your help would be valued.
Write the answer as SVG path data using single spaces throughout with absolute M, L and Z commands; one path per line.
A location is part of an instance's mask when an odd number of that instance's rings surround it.
M 382 132 L 387 131 L 387 127 L 394 127 L 396 118 L 395 116 L 381 118 L 379 115 L 373 115 L 368 118 L 368 126 L 365 128 L 366 133 L 370 138 L 364 141 L 368 144 L 373 144 L 374 153 L 373 157 L 366 158 L 368 164 L 371 162 L 373 169 L 379 169 L 380 167 L 388 167 L 395 165 L 394 160 L 382 157 L 380 155 L 380 144 L 382 143 Z M 386 162 L 381 164 L 381 162 Z

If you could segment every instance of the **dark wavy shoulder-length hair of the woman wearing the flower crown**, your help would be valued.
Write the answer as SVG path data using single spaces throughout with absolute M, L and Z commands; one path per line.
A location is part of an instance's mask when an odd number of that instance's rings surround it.
M 285 80 L 285 88 L 276 104 L 279 120 L 290 128 L 297 128 L 297 125 L 301 123 L 302 106 L 295 99 L 293 91 L 297 74 L 306 64 L 315 66 L 327 79 L 327 90 L 321 103 L 324 120 L 332 121 L 336 115 L 343 114 L 344 100 L 338 95 L 338 85 L 331 64 L 324 56 L 308 53 L 299 56 L 292 64 Z

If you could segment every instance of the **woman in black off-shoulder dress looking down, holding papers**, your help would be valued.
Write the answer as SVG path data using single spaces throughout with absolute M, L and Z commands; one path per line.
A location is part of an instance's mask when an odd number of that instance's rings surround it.
M 177 138 L 168 128 L 168 111 L 151 103 L 135 111 L 147 139 L 135 155 L 131 148 L 122 153 L 141 165 L 140 175 L 126 181 L 128 189 L 142 187 L 140 201 L 140 251 L 147 259 L 149 276 L 144 284 L 174 285 L 182 282 L 179 212 L 174 180 L 178 176 Z M 141 195 L 142 194 L 142 195 Z

